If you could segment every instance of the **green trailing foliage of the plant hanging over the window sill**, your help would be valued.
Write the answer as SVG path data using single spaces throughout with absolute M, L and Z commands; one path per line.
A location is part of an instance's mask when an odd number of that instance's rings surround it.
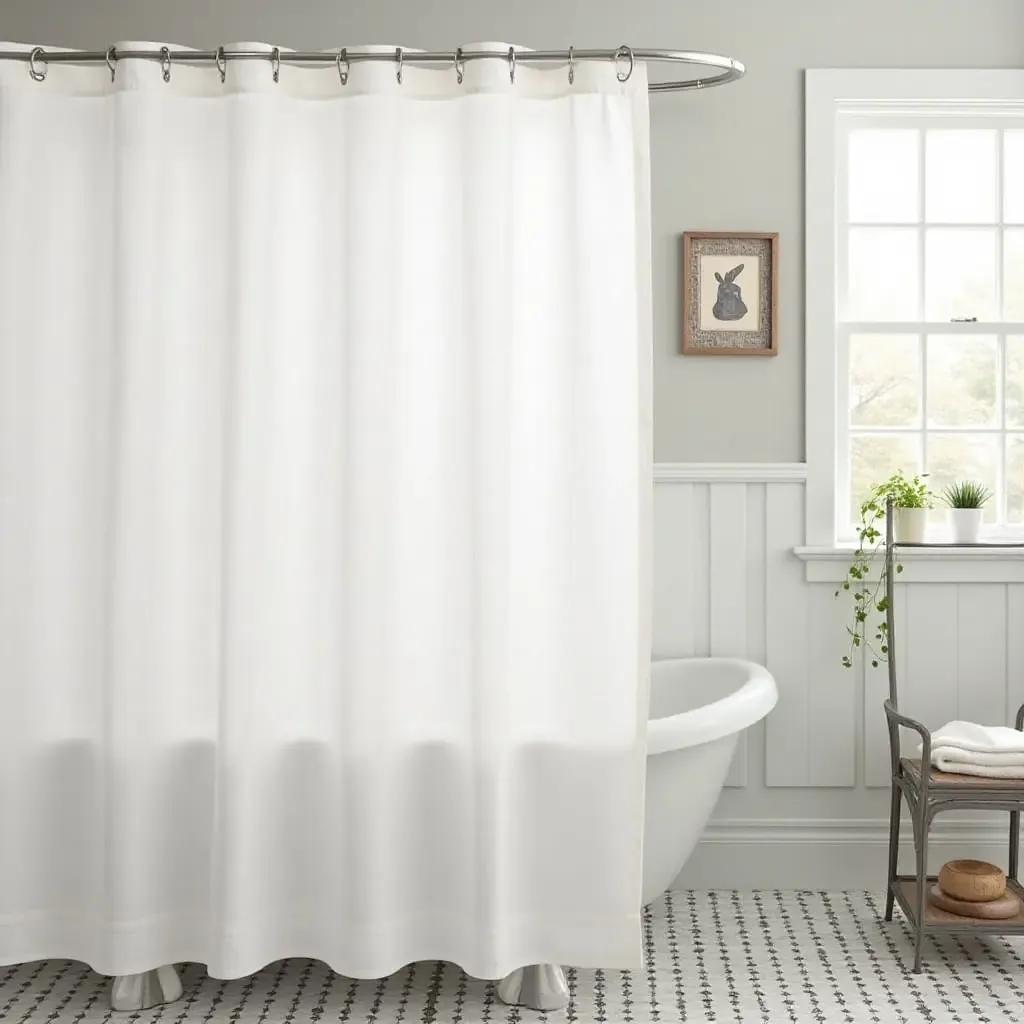
M 848 593 L 853 600 L 853 624 L 846 628 L 850 635 L 850 647 L 843 655 L 843 665 L 853 667 L 853 658 L 859 648 L 864 656 L 871 659 L 871 668 L 877 669 L 889 654 L 889 625 L 886 611 L 886 565 L 877 580 L 871 579 L 871 564 L 879 549 L 885 545 L 886 506 L 892 499 L 894 508 L 930 508 L 932 494 L 925 483 L 927 473 L 906 476 L 897 470 L 888 480 L 871 487 L 867 498 L 860 503 L 860 522 L 857 525 L 857 550 L 853 561 L 846 570 L 846 577 L 836 591 L 836 597 Z M 894 563 L 897 573 L 903 566 Z

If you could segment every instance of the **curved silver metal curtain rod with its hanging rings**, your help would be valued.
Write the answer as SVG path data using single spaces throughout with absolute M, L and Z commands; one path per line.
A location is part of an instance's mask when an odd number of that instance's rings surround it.
M 348 66 L 368 61 L 393 62 L 396 66 L 398 81 L 401 82 L 403 65 L 451 65 L 462 81 L 463 66 L 469 60 L 505 60 L 509 65 L 509 75 L 515 81 L 516 65 L 565 65 L 568 69 L 569 81 L 574 75 L 574 65 L 584 60 L 610 60 L 617 68 L 621 82 L 629 79 L 637 60 L 648 63 L 671 63 L 694 67 L 711 72 L 709 75 L 698 74 L 691 78 L 678 79 L 669 82 L 651 82 L 650 92 L 682 92 L 687 89 L 707 89 L 714 85 L 726 85 L 741 78 L 745 69 L 732 57 L 721 56 L 718 53 L 700 53 L 692 50 L 644 50 L 632 49 L 629 46 L 618 46 L 613 50 L 578 50 L 569 47 L 567 50 L 517 50 L 509 47 L 507 53 L 494 50 L 463 50 L 453 52 L 404 50 L 401 47 L 393 52 L 366 52 L 342 49 L 337 52 L 324 50 L 283 50 L 273 47 L 271 50 L 241 50 L 226 49 L 223 46 L 215 50 L 172 49 L 162 46 L 147 50 L 119 50 L 111 46 L 106 50 L 47 50 L 37 46 L 32 50 L 0 50 L 0 60 L 20 60 L 29 66 L 29 74 L 41 82 L 46 78 L 46 67 L 51 63 L 90 65 L 105 63 L 111 70 L 111 76 L 117 73 L 119 60 L 156 60 L 164 70 L 164 79 L 169 81 L 171 68 L 176 65 L 213 65 L 219 72 L 221 81 L 224 79 L 225 67 L 228 60 L 268 60 L 273 68 L 273 79 L 278 81 L 278 73 L 283 63 L 335 66 L 341 77 L 342 84 L 348 78 Z

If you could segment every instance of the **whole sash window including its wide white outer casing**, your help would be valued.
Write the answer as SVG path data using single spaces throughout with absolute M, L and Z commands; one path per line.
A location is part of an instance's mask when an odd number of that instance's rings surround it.
M 808 73 L 808 543 L 898 468 L 983 482 L 988 532 L 1024 535 L 1022 100 L 1018 73 Z

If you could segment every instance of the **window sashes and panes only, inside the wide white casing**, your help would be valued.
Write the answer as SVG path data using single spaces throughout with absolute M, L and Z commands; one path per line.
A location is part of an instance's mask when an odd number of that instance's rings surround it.
M 844 117 L 840 145 L 840 526 L 904 468 L 1024 527 L 1024 121 Z

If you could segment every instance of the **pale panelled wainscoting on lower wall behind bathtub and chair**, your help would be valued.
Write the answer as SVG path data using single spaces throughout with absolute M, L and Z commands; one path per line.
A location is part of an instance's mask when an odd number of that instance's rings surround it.
M 739 742 L 681 887 L 885 885 L 887 677 L 841 665 L 848 607 L 834 594 L 849 559 L 802 547 L 806 476 L 802 463 L 655 466 L 654 657 L 749 657 L 779 689 Z M 904 565 L 901 707 L 932 728 L 1012 723 L 1024 702 L 1024 552 L 918 552 Z M 1005 822 L 940 815 L 930 860 L 1002 863 Z

